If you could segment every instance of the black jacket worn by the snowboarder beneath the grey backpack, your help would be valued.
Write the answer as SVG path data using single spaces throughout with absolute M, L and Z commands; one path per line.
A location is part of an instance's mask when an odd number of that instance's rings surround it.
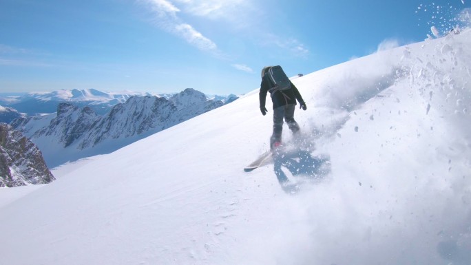
M 266 93 L 269 92 L 270 88 L 271 88 L 271 82 L 269 80 L 268 75 L 265 74 L 262 78 L 262 83 L 260 84 L 260 92 L 258 93 L 258 95 L 260 96 L 260 107 L 265 107 Z M 291 83 L 291 89 L 284 90 L 282 92 L 281 91 L 270 92 L 270 96 L 271 96 L 271 101 L 273 102 L 273 109 L 284 106 L 284 105 L 289 105 L 289 104 L 296 105 L 296 100 L 301 105 L 304 104 L 304 100 L 302 100 L 302 96 L 300 92 L 297 90 L 295 85 L 293 85 L 293 83 Z

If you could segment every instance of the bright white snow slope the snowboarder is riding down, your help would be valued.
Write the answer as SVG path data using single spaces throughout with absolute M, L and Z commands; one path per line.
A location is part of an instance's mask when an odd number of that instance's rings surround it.
M 293 83 L 308 106 L 300 150 L 331 165 L 297 193 L 275 164 L 242 171 L 269 148 L 255 90 L 56 169 L 1 208 L 1 262 L 469 265 L 471 32 Z M 313 178 L 280 169 L 288 184 Z

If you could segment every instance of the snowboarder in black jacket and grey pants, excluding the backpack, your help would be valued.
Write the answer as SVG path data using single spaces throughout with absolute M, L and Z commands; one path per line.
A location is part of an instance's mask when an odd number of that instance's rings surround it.
M 265 107 L 267 92 L 270 92 L 271 101 L 273 102 L 273 134 L 270 138 L 270 149 L 273 150 L 275 147 L 281 145 L 283 118 L 286 120 L 293 134 L 296 134 L 300 130 L 300 125 L 298 125 L 294 119 L 296 100 L 300 103 L 300 109 L 306 110 L 306 103 L 304 103 L 300 92 L 289 79 L 289 89 L 276 89 L 277 86 L 273 84 L 273 76 L 270 77 L 269 74 L 267 74 L 270 68 L 270 66 L 267 66 L 262 69 L 262 83 L 260 84 L 259 96 L 260 111 L 264 116 L 266 112 L 268 112 Z

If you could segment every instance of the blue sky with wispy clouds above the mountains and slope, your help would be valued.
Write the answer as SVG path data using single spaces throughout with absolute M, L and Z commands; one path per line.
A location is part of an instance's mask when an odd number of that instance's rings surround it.
M 0 0 L 0 92 L 244 94 L 264 65 L 294 76 L 423 41 L 468 1 Z

